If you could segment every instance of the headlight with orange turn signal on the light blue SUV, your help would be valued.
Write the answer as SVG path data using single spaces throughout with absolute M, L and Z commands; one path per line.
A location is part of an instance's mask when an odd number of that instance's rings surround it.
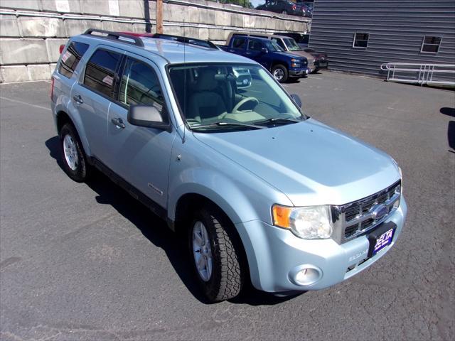
M 304 239 L 327 239 L 332 235 L 329 206 L 287 207 L 273 205 L 273 224 L 290 229 Z

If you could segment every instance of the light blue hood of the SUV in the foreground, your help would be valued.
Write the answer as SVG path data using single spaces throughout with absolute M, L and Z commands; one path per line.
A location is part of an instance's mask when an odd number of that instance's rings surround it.
M 346 204 L 400 179 L 397 164 L 386 153 L 314 119 L 194 136 L 282 191 L 296 206 Z

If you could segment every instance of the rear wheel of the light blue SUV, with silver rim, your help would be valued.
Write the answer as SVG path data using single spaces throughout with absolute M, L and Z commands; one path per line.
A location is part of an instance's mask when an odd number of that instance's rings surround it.
M 67 123 L 60 130 L 60 151 L 65 173 L 77 183 L 87 180 L 90 165 L 73 124 Z

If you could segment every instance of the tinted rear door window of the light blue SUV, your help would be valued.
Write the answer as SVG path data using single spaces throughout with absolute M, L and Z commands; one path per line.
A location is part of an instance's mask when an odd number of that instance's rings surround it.
M 85 68 L 84 84 L 114 97 L 115 75 L 121 55 L 107 50 L 97 50 Z

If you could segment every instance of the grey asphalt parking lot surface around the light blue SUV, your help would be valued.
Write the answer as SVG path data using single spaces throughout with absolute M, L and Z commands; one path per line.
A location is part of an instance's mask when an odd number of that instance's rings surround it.
M 0 85 L 1 340 L 454 340 L 453 91 L 336 72 L 285 84 L 311 117 L 395 158 L 407 225 L 337 286 L 208 305 L 164 222 L 103 175 L 62 171 L 49 86 Z

